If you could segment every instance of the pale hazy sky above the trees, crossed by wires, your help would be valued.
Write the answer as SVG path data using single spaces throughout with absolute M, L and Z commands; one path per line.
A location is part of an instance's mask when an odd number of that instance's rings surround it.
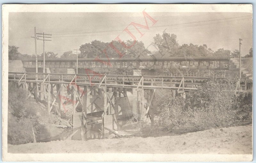
M 147 19 L 149 29 L 129 24 L 145 24 L 142 12 L 10 12 L 9 45 L 19 47 L 22 54 L 35 54 L 34 27 L 37 33 L 52 34 L 52 41 L 45 41 L 45 51 L 62 55 L 65 51 L 75 51 L 81 44 L 93 40 L 110 42 L 117 36 L 121 40 L 132 39 L 124 29 L 128 29 L 147 48 L 156 34 L 177 35 L 181 44 L 206 44 L 217 50 L 239 49 L 245 56 L 252 47 L 252 14 L 246 12 L 148 12 L 157 22 L 153 25 Z M 149 50 L 156 50 L 153 46 Z M 37 40 L 37 54 L 43 53 L 43 41 Z

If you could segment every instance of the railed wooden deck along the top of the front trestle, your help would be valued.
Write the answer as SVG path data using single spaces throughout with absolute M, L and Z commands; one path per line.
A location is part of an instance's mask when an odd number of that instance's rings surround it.
M 107 86 L 137 89 L 171 89 L 195 91 L 196 87 L 209 77 L 203 76 L 133 76 L 102 74 L 43 74 L 9 72 L 9 81 L 74 84 L 84 86 Z M 225 79 L 217 77 L 217 79 Z M 240 86 L 244 86 L 243 79 Z

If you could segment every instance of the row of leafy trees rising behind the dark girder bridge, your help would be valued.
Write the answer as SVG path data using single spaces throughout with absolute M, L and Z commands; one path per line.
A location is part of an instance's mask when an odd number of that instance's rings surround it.
M 126 46 L 126 48 L 124 47 Z M 120 54 L 124 58 L 140 58 L 153 55 L 155 57 L 206 57 L 206 56 L 230 56 L 239 57 L 239 50 L 225 50 L 220 48 L 213 51 L 208 48 L 206 44 L 182 44 L 180 45 L 177 40 L 177 35 L 164 33 L 162 35 L 156 34 L 154 42 L 150 45 L 156 50 L 148 50 L 144 46 L 142 41 L 127 40 L 126 42 L 119 42 L 113 40 L 109 43 L 105 43 L 98 40 L 93 40 L 90 43 L 84 43 L 80 45 L 79 58 L 119 58 Z M 22 60 L 28 58 L 36 58 L 35 54 L 21 54 L 19 47 L 8 46 L 8 56 L 10 60 Z M 114 48 L 113 48 L 114 47 Z M 129 47 L 129 48 L 127 48 Z M 43 53 L 38 54 L 37 57 L 43 58 Z M 252 48 L 249 50 L 249 54 L 245 57 L 252 57 Z M 45 58 L 76 58 L 76 54 L 72 50 L 64 52 L 60 57 L 58 53 L 52 51 L 45 52 Z

